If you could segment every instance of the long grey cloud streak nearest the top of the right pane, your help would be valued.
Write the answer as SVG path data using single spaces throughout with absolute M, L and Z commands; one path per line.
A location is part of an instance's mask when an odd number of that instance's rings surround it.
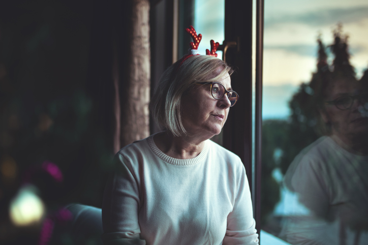
M 356 7 L 350 9 L 325 9 L 302 14 L 285 14 L 280 17 L 266 18 L 265 28 L 285 23 L 302 23 L 310 26 L 333 25 L 359 22 L 368 18 L 368 7 Z

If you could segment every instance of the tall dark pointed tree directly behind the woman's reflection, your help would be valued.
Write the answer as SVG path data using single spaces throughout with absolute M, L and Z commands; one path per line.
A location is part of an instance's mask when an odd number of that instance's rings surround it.
M 290 123 L 286 134 L 288 148 L 281 160 L 283 173 L 288 169 L 294 157 L 321 135 L 328 135 L 328 125 L 322 122 L 318 108 L 322 102 L 322 91 L 329 81 L 339 78 L 353 78 L 354 67 L 350 64 L 348 37 L 343 35 L 341 25 L 333 32 L 334 42 L 328 46 L 334 56 L 332 64 L 327 62 L 325 45 L 319 38 L 317 71 L 308 83 L 302 83 L 289 103 L 291 109 Z

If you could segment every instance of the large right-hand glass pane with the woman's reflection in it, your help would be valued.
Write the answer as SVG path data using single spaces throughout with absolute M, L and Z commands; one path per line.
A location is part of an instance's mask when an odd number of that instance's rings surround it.
M 368 244 L 368 2 L 264 16 L 261 243 Z

